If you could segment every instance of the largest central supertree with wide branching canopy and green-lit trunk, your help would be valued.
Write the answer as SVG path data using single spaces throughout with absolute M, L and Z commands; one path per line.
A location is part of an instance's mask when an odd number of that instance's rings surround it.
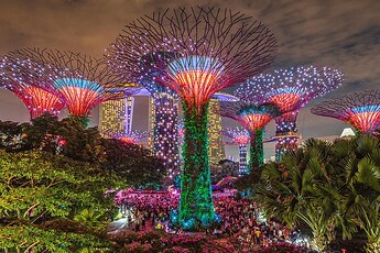
M 155 78 L 178 95 L 184 109 L 185 144 L 178 221 L 185 229 L 215 219 L 208 162 L 208 101 L 218 90 L 267 68 L 275 50 L 270 31 L 239 12 L 215 8 L 166 10 L 126 25 L 108 59 L 135 81 L 148 72 L 141 56 L 175 52 Z M 156 64 L 158 67 L 159 64 Z

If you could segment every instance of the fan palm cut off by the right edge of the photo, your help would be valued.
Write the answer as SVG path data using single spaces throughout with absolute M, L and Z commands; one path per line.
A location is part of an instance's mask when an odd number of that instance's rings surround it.
M 345 174 L 341 210 L 346 221 L 359 227 L 367 235 L 366 251 L 380 249 L 380 141 L 362 135 L 336 142 L 333 155 Z M 343 228 L 345 228 L 343 226 Z M 351 238 L 355 230 L 343 230 Z

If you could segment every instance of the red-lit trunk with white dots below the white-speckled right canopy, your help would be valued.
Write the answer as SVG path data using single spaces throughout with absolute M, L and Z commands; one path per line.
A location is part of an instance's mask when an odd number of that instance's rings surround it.
M 298 148 L 296 119 L 298 110 L 284 113 L 275 119 L 275 162 L 281 162 L 284 153 Z

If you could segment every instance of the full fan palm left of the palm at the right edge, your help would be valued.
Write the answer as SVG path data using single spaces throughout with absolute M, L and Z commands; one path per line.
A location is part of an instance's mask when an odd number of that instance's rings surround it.
M 335 158 L 330 152 L 329 144 L 311 139 L 304 148 L 284 156 L 282 163 L 268 164 L 261 176 L 267 184 L 259 187 L 267 213 L 291 227 L 306 223 L 319 251 L 335 239 L 340 217 L 341 180 L 332 167 Z

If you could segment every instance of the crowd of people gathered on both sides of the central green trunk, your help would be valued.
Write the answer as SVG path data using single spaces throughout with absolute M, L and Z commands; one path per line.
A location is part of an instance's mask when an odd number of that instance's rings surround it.
M 182 232 L 171 230 L 169 226 L 171 211 L 178 208 L 178 195 L 123 193 L 117 202 L 127 217 L 129 228 L 134 231 L 145 229 L 146 221 L 151 221 L 156 230 Z M 300 231 L 291 230 L 274 219 L 260 219 L 259 207 L 251 199 L 218 196 L 214 198 L 214 206 L 221 224 L 206 230 L 206 233 L 237 240 L 242 248 L 253 249 L 271 242 L 295 242 L 300 239 Z

